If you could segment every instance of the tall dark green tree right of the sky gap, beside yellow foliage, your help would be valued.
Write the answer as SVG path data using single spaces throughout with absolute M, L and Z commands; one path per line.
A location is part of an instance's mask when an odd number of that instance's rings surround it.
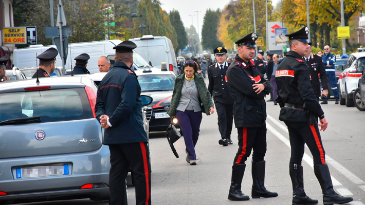
M 217 29 L 220 22 L 221 12 L 219 9 L 212 11 L 208 9 L 204 16 L 202 27 L 202 45 L 205 48 L 213 50 L 218 46 L 222 46 L 222 42 L 218 40 Z

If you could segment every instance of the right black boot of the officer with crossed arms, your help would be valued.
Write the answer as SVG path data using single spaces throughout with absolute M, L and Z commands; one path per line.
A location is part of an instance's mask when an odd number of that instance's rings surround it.
M 276 197 L 278 193 L 269 192 L 265 188 L 265 160 L 252 162 L 252 198 Z

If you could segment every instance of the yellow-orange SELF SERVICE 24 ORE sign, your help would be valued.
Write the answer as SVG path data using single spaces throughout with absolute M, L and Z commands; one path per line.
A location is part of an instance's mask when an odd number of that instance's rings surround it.
M 3 33 L 4 44 L 27 44 L 25 27 L 7 27 Z

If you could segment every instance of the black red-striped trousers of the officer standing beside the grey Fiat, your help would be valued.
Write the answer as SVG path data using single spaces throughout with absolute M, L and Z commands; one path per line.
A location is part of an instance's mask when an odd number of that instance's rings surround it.
M 136 204 L 151 204 L 151 166 L 147 142 L 109 144 L 110 204 L 124 204 L 125 179 L 131 168 L 136 188 Z

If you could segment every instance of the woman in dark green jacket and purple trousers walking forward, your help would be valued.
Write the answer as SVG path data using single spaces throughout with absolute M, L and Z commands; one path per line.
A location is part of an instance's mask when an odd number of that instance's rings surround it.
M 204 82 L 204 78 L 196 74 L 198 65 L 194 61 L 186 61 L 182 66 L 184 73 L 175 79 L 171 105 L 167 114 L 175 116 L 179 122 L 186 145 L 186 161 L 196 164 L 195 145 L 199 137 L 202 112 L 214 113 L 212 97 Z

